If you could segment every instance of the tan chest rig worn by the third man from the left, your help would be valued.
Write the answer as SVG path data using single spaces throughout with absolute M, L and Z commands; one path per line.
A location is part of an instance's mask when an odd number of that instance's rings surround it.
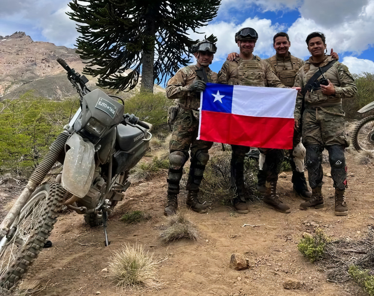
M 276 56 L 273 56 L 269 61 L 272 70 L 278 76 L 279 80 L 281 80 L 283 85 L 289 87 L 294 86 L 296 73 L 300 68 L 298 59 L 291 55 L 290 59 L 279 61 Z M 286 70 L 283 69 L 283 65 L 287 68 Z

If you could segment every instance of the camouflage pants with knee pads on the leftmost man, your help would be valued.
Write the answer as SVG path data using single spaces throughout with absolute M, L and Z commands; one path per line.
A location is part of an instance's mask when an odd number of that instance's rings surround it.
M 213 142 L 196 140 L 199 131 L 199 112 L 179 108 L 177 117 L 174 122 L 173 132 L 170 140 L 170 156 L 182 152 L 184 154 L 183 161 L 178 166 L 170 161 L 169 167 L 169 192 L 174 188 L 173 192 L 179 192 L 179 182 L 182 177 L 183 166 L 188 160 L 188 151 L 191 149 L 191 165 L 188 173 L 186 189 L 198 191 L 205 165 L 209 160 L 208 150 L 212 147 Z M 171 160 L 171 157 L 169 157 Z M 175 158 L 173 158 L 175 159 Z M 182 165 L 180 165 L 182 164 Z

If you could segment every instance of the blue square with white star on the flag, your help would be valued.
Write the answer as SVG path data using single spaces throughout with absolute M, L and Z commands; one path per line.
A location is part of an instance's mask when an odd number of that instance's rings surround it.
M 233 85 L 206 83 L 202 92 L 202 110 L 231 113 Z

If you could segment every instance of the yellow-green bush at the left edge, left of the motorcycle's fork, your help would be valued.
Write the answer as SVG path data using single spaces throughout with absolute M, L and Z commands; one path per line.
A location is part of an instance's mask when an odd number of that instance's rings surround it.
M 0 102 L 0 173 L 28 177 L 78 107 L 74 98 L 50 101 L 32 91 Z

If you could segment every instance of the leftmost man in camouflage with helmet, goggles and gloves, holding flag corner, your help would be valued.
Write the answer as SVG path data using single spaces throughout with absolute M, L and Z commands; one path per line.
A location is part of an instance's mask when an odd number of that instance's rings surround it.
M 188 160 L 191 149 L 191 165 L 186 189 L 186 204 L 197 213 L 206 213 L 208 209 L 199 202 L 197 194 L 203 178 L 205 165 L 209 160 L 208 150 L 213 142 L 196 140 L 199 129 L 200 91 L 205 89 L 205 82 L 199 79 L 196 70 L 204 67 L 209 82 L 217 83 L 217 73 L 209 69 L 217 47 L 209 40 L 203 40 L 192 47 L 196 65 L 181 68 L 171 77 L 166 86 L 166 96 L 178 100 L 179 110 L 174 122 L 170 140 L 170 167 L 168 181 L 168 202 L 164 215 L 175 214 L 179 193 L 179 182 L 183 174 L 183 166 Z

